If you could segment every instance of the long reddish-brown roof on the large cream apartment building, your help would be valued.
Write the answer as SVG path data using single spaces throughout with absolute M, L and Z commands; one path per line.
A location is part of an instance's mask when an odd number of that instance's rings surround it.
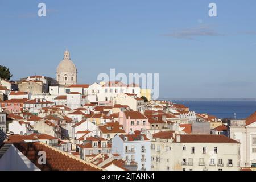
M 175 142 L 177 135 L 175 137 Z M 239 143 L 224 135 L 180 135 L 179 143 Z

